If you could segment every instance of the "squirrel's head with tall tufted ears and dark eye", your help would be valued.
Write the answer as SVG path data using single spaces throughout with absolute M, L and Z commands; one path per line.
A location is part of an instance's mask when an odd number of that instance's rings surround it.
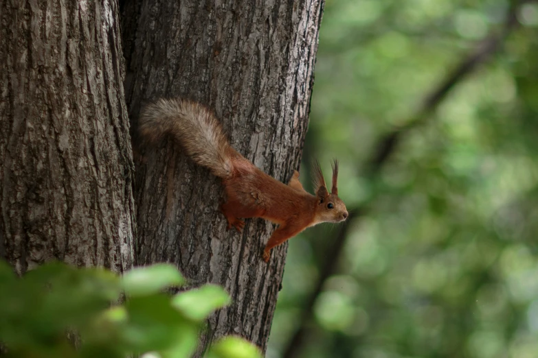
M 322 168 L 317 161 L 314 164 L 314 184 L 317 197 L 315 224 L 321 222 L 343 222 L 348 217 L 346 204 L 338 198 L 337 179 L 338 161 L 333 161 L 333 187 L 330 193 L 323 178 Z

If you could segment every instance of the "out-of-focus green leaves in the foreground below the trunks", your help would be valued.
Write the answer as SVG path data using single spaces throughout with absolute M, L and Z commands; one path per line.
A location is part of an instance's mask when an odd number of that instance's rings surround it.
M 181 274 L 167 264 L 120 278 L 107 270 L 49 263 L 16 278 L 0 261 L 0 342 L 8 357 L 190 357 L 205 319 L 230 299 L 214 285 L 173 296 L 163 292 L 181 284 Z M 117 303 L 123 293 L 128 299 Z M 206 357 L 261 355 L 249 342 L 225 337 Z

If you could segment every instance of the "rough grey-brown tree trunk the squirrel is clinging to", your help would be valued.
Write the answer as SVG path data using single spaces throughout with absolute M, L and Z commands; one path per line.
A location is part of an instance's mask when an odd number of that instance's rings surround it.
M 323 4 L 126 3 L 122 34 L 132 127 L 148 100 L 193 99 L 214 110 L 236 150 L 287 182 L 298 169 L 306 134 Z M 137 264 L 175 263 L 192 286 L 210 282 L 229 292 L 234 303 L 212 315 L 203 347 L 236 334 L 265 350 L 287 245 L 273 249 L 267 265 L 262 249 L 273 225 L 247 219 L 243 233 L 227 231 L 218 211 L 218 179 L 171 140 L 147 147 L 134 137 Z

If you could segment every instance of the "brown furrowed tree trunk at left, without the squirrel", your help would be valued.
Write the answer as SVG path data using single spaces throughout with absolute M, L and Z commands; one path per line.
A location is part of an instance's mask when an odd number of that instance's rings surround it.
M 0 256 L 133 263 L 133 160 L 114 1 L 0 1 Z

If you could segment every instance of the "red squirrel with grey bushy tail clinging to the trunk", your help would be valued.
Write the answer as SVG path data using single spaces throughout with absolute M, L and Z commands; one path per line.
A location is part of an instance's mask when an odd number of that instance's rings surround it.
M 139 117 L 139 133 L 150 142 L 171 135 L 188 156 L 222 179 L 227 200 L 221 212 L 239 232 L 245 226 L 240 218 L 262 217 L 279 224 L 273 232 L 263 259 L 269 261 L 271 248 L 280 245 L 310 226 L 322 222 L 342 222 L 348 217 L 338 198 L 338 162 L 333 163 L 330 193 L 319 163 L 314 167 L 316 195 L 306 192 L 293 171 L 288 185 L 271 178 L 236 152 L 227 140 L 221 123 L 210 110 L 183 99 L 158 99 L 146 106 Z

